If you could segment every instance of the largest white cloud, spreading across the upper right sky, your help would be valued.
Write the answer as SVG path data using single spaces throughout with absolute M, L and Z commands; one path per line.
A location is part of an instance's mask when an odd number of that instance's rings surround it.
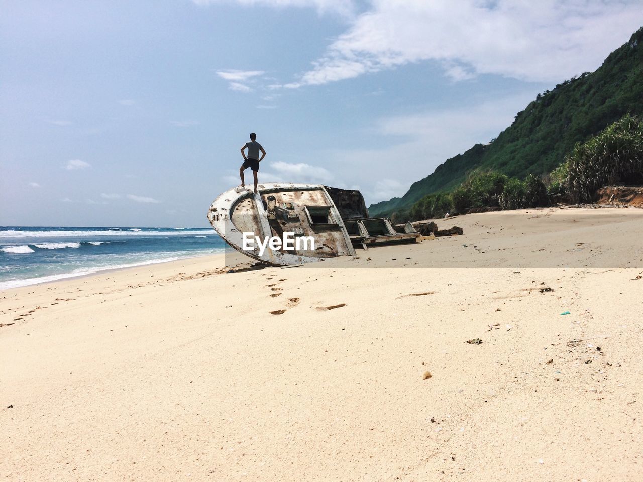
M 453 80 L 556 82 L 600 66 L 642 23 L 640 0 L 374 0 L 300 80 L 321 85 L 433 60 Z

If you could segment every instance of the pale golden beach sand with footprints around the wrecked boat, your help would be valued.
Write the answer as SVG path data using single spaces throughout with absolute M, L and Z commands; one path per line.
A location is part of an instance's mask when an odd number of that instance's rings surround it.
M 0 478 L 640 481 L 641 214 L 0 292 Z

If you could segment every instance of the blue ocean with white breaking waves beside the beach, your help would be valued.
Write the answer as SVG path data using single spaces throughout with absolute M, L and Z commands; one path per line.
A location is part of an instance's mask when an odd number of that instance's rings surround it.
M 0 290 L 224 249 L 212 228 L 0 226 Z

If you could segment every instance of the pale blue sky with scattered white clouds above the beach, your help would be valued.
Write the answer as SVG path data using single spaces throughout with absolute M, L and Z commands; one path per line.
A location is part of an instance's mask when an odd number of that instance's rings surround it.
M 260 182 L 384 201 L 643 25 L 640 0 L 0 0 L 0 12 L 0 226 L 207 226 L 240 183 L 249 132 L 267 152 Z

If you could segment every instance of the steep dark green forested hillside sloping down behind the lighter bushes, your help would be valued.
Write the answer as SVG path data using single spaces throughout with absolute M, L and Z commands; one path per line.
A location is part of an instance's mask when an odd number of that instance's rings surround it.
M 487 145 L 476 144 L 412 184 L 403 197 L 372 204 L 371 216 L 410 208 L 427 194 L 451 190 L 471 170 L 514 177 L 546 174 L 577 141 L 586 141 L 624 114 L 643 114 L 643 28 L 613 51 L 593 73 L 556 85 L 518 112 L 510 127 Z

